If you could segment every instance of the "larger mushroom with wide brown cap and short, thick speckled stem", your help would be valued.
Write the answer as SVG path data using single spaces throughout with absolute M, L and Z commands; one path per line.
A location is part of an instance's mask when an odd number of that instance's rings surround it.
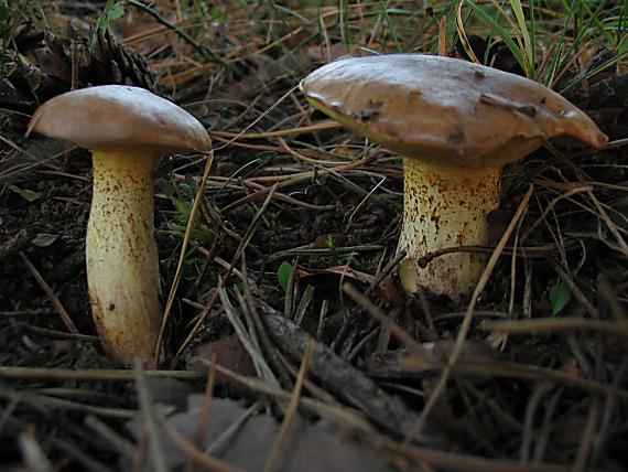
M 486 256 L 447 247 L 490 243 L 501 167 L 545 141 L 603 147 L 607 137 L 578 108 L 533 81 L 462 60 L 422 54 L 348 57 L 301 83 L 317 109 L 402 155 L 403 287 L 463 301 Z

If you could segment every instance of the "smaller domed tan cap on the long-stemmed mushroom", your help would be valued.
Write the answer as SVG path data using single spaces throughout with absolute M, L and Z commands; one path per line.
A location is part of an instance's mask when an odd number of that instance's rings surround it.
M 170 154 L 206 152 L 212 146 L 207 131 L 191 114 L 127 85 L 82 88 L 54 97 L 35 112 L 32 130 L 101 151 L 136 148 Z

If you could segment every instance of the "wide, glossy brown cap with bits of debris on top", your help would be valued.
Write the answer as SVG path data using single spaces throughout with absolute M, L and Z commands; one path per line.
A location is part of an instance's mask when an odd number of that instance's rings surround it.
M 583 111 L 548 87 L 450 57 L 348 57 L 314 71 L 301 89 L 346 127 L 438 165 L 495 168 L 552 138 L 594 148 L 607 141 Z

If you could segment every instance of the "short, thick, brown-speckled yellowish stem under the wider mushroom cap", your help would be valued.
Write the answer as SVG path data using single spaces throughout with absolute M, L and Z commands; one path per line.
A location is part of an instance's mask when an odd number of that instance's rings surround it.
M 434 258 L 425 268 L 416 260 L 454 246 L 485 245 L 490 233 L 487 215 L 499 205 L 500 169 L 457 169 L 403 158 L 403 225 L 398 250 L 401 283 L 416 292 L 419 285 L 459 302 L 479 280 L 486 256 L 452 253 Z

